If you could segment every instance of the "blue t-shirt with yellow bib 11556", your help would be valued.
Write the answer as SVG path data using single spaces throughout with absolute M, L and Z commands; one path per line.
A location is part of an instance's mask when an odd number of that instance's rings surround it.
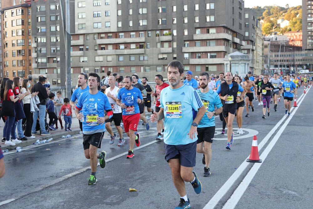
M 83 132 L 97 129 L 105 129 L 105 123 L 100 125 L 97 123 L 98 117 L 105 116 L 104 111 L 111 110 L 111 105 L 108 97 L 101 91 L 96 94 L 90 94 L 89 91 L 80 95 L 76 104 L 78 109 L 81 109 L 84 114 Z

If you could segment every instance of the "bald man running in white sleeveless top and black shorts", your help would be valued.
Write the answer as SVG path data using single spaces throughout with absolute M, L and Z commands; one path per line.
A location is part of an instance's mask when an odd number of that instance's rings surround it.
M 122 108 L 117 105 L 117 93 L 119 92 L 119 88 L 115 86 L 115 76 L 109 76 L 108 84 L 110 88 L 105 89 L 105 95 L 108 97 L 112 111 L 113 116 L 112 118 L 105 121 L 105 129 L 110 133 L 110 143 L 114 144 L 114 139 L 116 137 L 116 134 L 113 133 L 113 130 L 111 128 L 111 123 L 114 121 L 115 128 L 117 129 L 117 133 L 120 136 L 119 143 L 117 146 L 123 146 L 125 139 L 123 138 L 123 129 L 121 128 L 121 120 L 122 120 Z

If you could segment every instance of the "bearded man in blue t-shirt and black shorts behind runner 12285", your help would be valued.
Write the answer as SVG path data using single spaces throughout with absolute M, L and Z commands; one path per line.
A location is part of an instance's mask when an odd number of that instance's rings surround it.
M 211 145 L 215 133 L 214 116 L 221 113 L 223 110 L 223 105 L 218 94 L 208 87 L 210 80 L 210 75 L 207 72 L 200 73 L 200 89 L 197 90 L 197 93 L 199 94 L 199 97 L 201 98 L 204 107 L 206 108 L 206 113 L 203 115 L 203 118 L 201 119 L 197 128 L 197 152 L 203 154 L 202 164 L 205 165 L 203 173 L 204 177 L 211 175 L 209 166 L 212 158 Z M 215 107 L 217 110 L 215 110 Z

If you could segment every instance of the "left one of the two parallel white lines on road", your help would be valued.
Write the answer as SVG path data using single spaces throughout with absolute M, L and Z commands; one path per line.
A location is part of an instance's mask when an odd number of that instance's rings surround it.
M 304 94 L 301 95 L 299 100 L 303 100 L 305 97 Z M 302 100 L 300 102 L 302 102 Z M 298 106 L 300 106 L 300 102 Z M 291 108 L 293 110 L 294 107 Z M 291 111 L 290 110 L 290 111 Z M 282 119 L 275 125 L 274 128 L 264 137 L 262 142 L 259 144 L 258 148 L 261 150 L 263 146 L 267 143 L 267 141 L 270 139 L 270 137 L 276 132 L 276 130 L 280 127 L 280 124 L 285 120 L 286 116 L 283 116 Z M 250 155 L 249 155 L 250 156 Z M 249 158 L 248 156 L 248 158 Z M 242 172 L 248 167 L 248 165 L 251 165 L 250 163 L 244 161 L 229 177 L 229 179 L 224 183 L 224 185 L 215 193 L 215 195 L 211 198 L 211 200 L 203 207 L 204 209 L 210 209 L 214 208 L 218 202 L 222 199 L 222 197 L 228 192 L 228 190 L 231 188 L 231 186 L 234 184 L 234 182 L 239 178 L 239 176 L 242 174 Z

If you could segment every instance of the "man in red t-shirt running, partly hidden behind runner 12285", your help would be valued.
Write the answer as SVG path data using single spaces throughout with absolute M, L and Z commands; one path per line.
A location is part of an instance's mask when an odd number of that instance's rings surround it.
M 162 89 L 165 87 L 169 86 L 167 83 L 163 82 L 163 76 L 162 75 L 156 75 L 154 81 L 156 82 L 156 92 L 152 93 L 152 96 L 154 96 L 154 101 L 156 100 L 156 112 L 160 111 L 160 95 Z M 156 129 L 157 129 L 157 136 L 156 136 L 156 141 L 160 141 L 163 139 L 161 135 L 164 134 L 164 124 L 163 120 L 158 120 L 156 122 Z M 162 131 L 161 131 L 162 130 Z

